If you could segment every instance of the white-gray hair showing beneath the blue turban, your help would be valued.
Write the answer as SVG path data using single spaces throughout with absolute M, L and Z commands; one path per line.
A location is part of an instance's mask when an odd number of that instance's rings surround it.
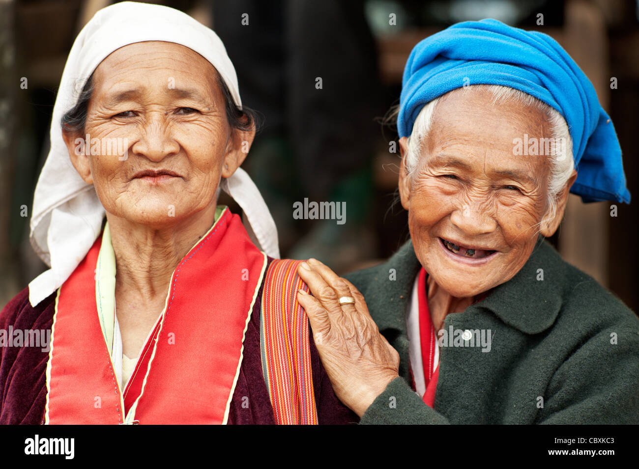
M 507 100 L 514 100 L 521 103 L 524 107 L 532 107 L 540 110 L 548 116 L 548 125 L 550 126 L 551 142 L 550 142 L 550 154 L 557 157 L 551 158 L 550 176 L 548 177 L 548 200 L 546 202 L 548 208 L 544 216 L 547 216 L 549 220 L 554 218 L 557 214 L 557 196 L 562 191 L 566 182 L 573 174 L 573 140 L 570 138 L 568 131 L 568 125 L 566 119 L 562 117 L 557 110 L 550 107 L 548 104 L 541 100 L 538 100 L 530 94 L 524 93 L 518 89 L 509 88 L 507 86 L 500 85 L 471 85 L 464 88 L 466 92 L 470 88 L 484 88 L 487 89 L 493 95 L 493 105 L 497 105 Z M 440 96 L 441 98 L 441 96 Z M 422 153 L 424 138 L 428 135 L 433 124 L 433 114 L 435 112 L 435 106 L 440 98 L 435 98 L 433 101 L 427 103 L 422 110 L 420 110 L 413 124 L 413 130 L 408 137 L 408 153 L 406 154 L 406 171 L 409 175 L 417 167 L 419 156 Z M 555 142 L 566 142 L 566 144 L 558 149 L 555 147 Z

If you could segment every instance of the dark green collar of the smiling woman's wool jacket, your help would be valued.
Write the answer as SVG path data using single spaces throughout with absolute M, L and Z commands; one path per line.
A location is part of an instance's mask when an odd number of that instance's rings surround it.
M 371 316 L 381 332 L 395 329 L 406 334 L 405 312 L 420 268 L 410 240 L 387 262 L 373 268 L 374 282 L 367 292 L 362 293 L 366 295 Z M 396 281 L 389 285 L 393 274 Z M 465 312 L 473 308 L 488 309 L 505 324 L 526 334 L 538 334 L 557 319 L 562 307 L 565 276 L 566 263 L 548 242 L 539 237 L 520 271 L 509 281 L 493 288 L 485 299 L 466 308 Z

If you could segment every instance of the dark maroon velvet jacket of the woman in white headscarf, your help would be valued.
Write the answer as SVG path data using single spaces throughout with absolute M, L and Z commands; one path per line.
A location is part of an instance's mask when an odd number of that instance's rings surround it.
M 269 261 L 271 259 L 269 258 Z M 229 424 L 275 424 L 266 383 L 262 374 L 259 344 L 259 289 L 244 339 L 240 375 L 229 410 Z M 0 313 L 0 329 L 51 329 L 56 294 L 51 294 L 35 308 L 29 303 L 25 288 Z M 348 424 L 358 417 L 335 397 L 328 375 L 319 360 L 310 334 L 311 366 L 319 424 Z M 47 397 L 46 371 L 49 352 L 39 347 L 0 347 L 0 424 L 42 424 Z M 206 385 L 206 383 L 202 383 Z M 249 406 L 242 407 L 247 396 Z M 246 401 L 246 399 L 244 399 Z

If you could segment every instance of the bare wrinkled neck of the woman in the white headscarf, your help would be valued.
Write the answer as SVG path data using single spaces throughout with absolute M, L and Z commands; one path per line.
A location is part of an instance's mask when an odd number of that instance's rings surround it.
M 107 212 L 116 257 L 116 293 L 164 299 L 173 271 L 215 221 L 215 200 L 196 215 L 166 227 L 132 223 Z

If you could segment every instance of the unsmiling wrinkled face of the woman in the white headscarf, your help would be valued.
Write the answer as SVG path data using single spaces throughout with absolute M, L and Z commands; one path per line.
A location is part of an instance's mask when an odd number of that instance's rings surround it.
M 84 132 L 63 137 L 107 216 L 159 228 L 215 210 L 220 177 L 242 164 L 254 136 L 230 128 L 217 79 L 197 52 L 162 41 L 100 63 Z M 86 135 L 79 152 L 75 139 Z

